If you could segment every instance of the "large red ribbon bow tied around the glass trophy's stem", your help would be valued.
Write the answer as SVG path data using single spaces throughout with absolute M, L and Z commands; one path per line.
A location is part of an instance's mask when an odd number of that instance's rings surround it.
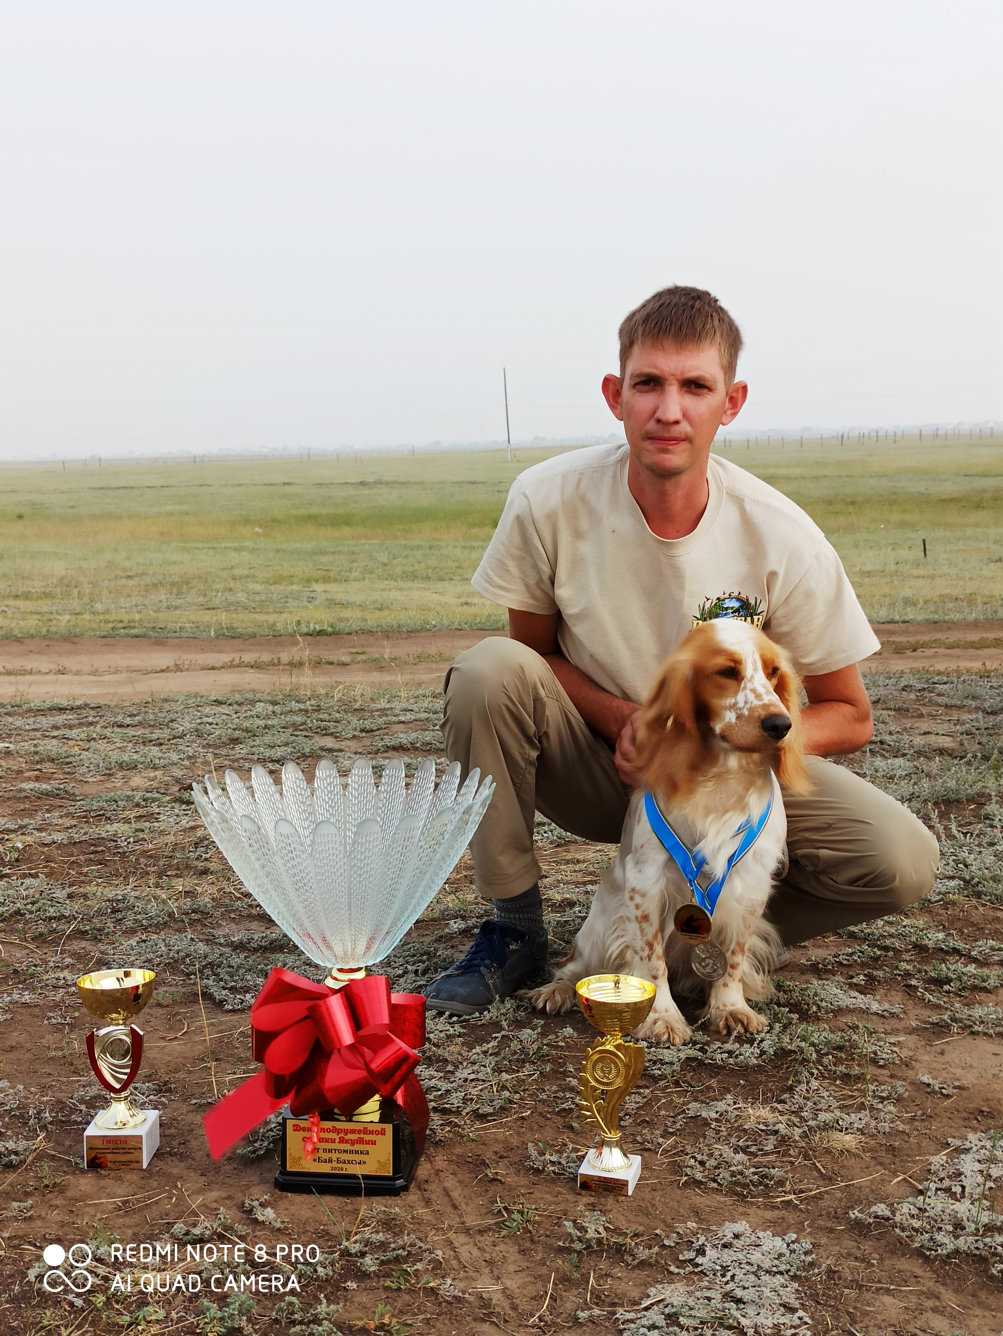
M 204 1116 L 214 1160 L 288 1102 L 296 1117 L 346 1117 L 379 1094 L 407 1114 L 425 1146 L 429 1105 L 414 1069 L 425 1043 L 425 998 L 391 993 L 383 974 L 333 993 L 291 970 L 272 970 L 251 1007 L 251 1051 L 264 1070 Z

